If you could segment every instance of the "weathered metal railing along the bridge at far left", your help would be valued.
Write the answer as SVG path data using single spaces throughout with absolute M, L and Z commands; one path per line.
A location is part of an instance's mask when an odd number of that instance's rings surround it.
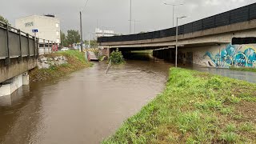
M 11 58 L 18 58 L 20 62 L 25 57 L 38 57 L 39 44 L 39 38 L 0 22 L 0 60 L 5 60 L 5 65 L 10 65 Z M 51 47 L 53 45 L 56 46 L 51 42 Z

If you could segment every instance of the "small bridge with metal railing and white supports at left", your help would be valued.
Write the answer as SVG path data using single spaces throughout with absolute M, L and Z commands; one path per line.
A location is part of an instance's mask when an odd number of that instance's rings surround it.
M 43 44 L 46 50 L 53 45 Z M 37 66 L 39 46 L 38 38 L 0 22 L 0 97 L 29 85 L 28 71 Z

